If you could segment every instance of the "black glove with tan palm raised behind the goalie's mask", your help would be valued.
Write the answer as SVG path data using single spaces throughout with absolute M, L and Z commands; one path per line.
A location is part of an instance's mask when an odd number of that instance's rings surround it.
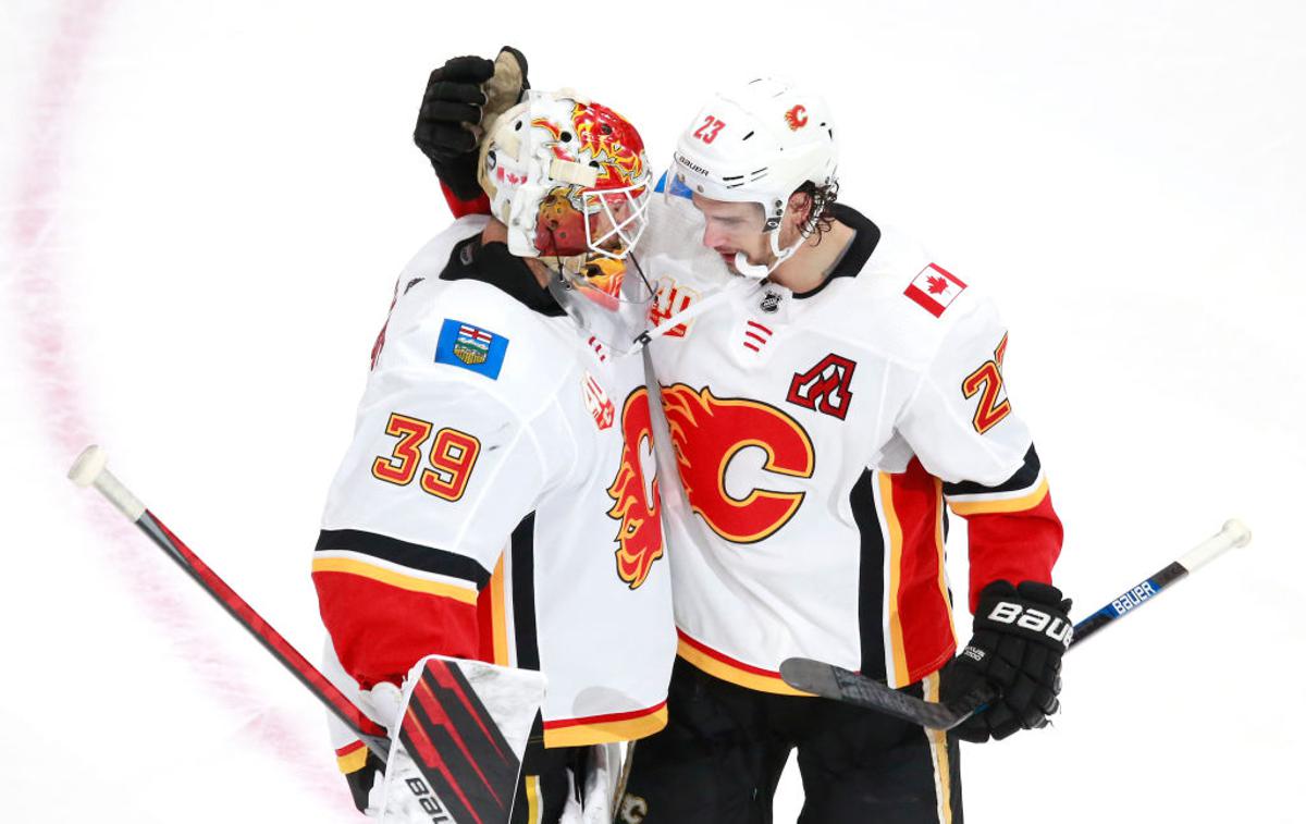
M 482 127 L 516 106 L 529 87 L 526 57 L 511 46 L 494 61 L 453 57 L 431 72 L 413 142 L 430 158 L 440 182 L 462 200 L 481 195 L 477 157 Z

